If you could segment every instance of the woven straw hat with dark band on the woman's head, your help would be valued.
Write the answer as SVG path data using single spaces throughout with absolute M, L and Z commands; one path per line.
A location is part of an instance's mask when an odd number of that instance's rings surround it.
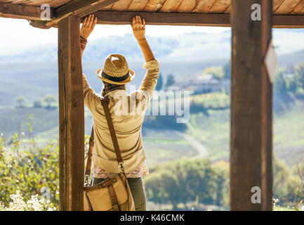
M 124 56 L 111 54 L 105 59 L 103 68 L 96 70 L 96 75 L 110 84 L 126 84 L 134 79 L 135 72 L 128 68 Z

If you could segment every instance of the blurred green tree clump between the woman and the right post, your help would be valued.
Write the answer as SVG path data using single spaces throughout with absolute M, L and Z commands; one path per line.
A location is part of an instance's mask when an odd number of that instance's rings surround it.
M 203 204 L 223 205 L 229 188 L 228 167 L 214 167 L 209 160 L 178 160 L 167 162 L 154 169 L 145 179 L 147 198 L 154 203 L 171 203 L 176 210 L 178 203 L 197 201 Z

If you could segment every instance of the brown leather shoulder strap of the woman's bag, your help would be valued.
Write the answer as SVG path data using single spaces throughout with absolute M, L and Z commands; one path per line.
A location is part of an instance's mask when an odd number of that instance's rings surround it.
M 105 117 L 107 119 L 107 126 L 109 127 L 109 130 L 110 130 L 110 134 L 111 134 L 111 138 L 112 138 L 112 142 L 113 142 L 113 146 L 114 146 L 114 150 L 115 150 L 115 154 L 116 154 L 116 158 L 117 158 L 117 163 L 118 163 L 118 165 L 120 165 L 121 172 L 124 173 L 124 167 L 123 167 L 124 160 L 122 160 L 122 157 L 121 157 L 121 153 L 120 153 L 120 149 L 119 149 L 119 145 L 118 145 L 118 141 L 117 141 L 117 136 L 115 134 L 115 130 L 114 130 L 114 126 L 113 126 L 113 122 L 112 122 L 112 118 L 111 118 L 110 110 L 109 110 L 110 99 L 109 98 L 100 98 L 100 102 L 101 102 L 101 105 L 103 105 L 103 110 L 105 111 Z M 88 147 L 88 160 L 86 161 L 86 173 L 85 173 L 86 181 L 88 180 L 88 177 L 91 174 L 93 147 L 94 147 L 94 129 L 92 127 L 90 143 L 89 143 L 89 147 Z

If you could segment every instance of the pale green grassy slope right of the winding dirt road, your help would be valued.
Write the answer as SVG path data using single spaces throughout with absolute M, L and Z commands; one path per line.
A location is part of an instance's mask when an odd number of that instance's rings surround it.
M 304 102 L 274 113 L 273 141 L 278 158 L 292 166 L 304 158 Z M 230 110 L 209 110 L 190 115 L 187 134 L 206 147 L 211 160 L 229 160 Z

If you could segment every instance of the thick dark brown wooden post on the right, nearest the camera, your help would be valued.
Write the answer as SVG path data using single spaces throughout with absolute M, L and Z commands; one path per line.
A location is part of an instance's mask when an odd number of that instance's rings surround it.
M 261 6 L 261 20 L 251 6 Z M 230 210 L 272 210 L 272 84 L 264 65 L 272 1 L 232 1 Z M 251 188 L 261 190 L 252 203 Z

